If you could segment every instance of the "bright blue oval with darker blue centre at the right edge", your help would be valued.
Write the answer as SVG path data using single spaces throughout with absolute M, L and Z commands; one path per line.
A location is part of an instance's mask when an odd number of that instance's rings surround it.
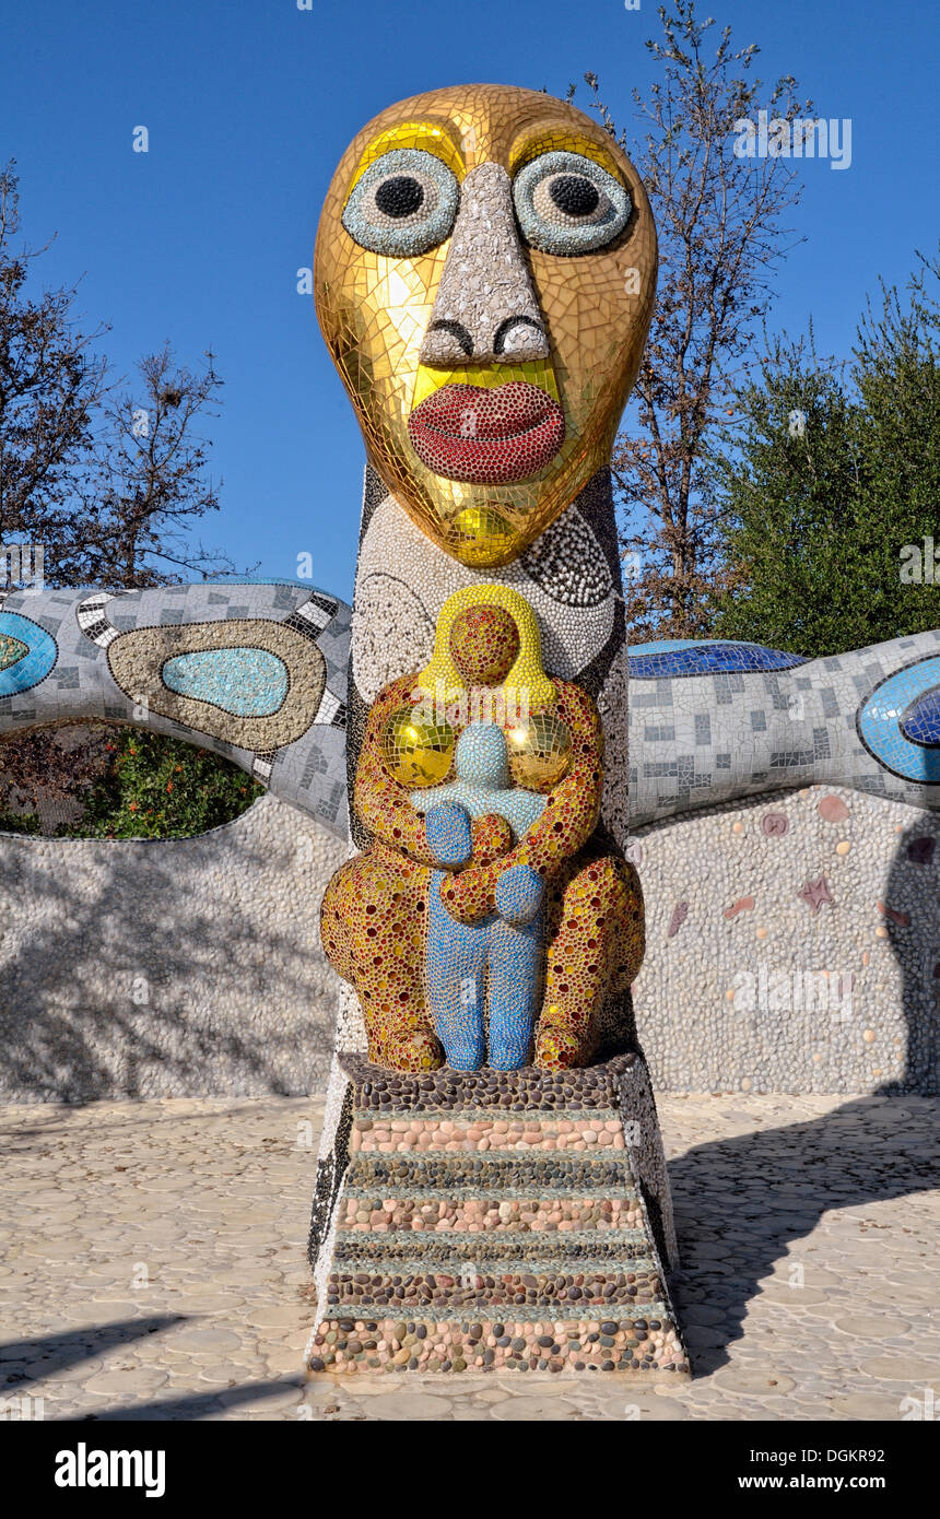
M 940 655 L 917 659 L 876 685 L 855 726 L 869 753 L 891 775 L 940 785 Z M 914 732 L 935 737 L 914 738 Z

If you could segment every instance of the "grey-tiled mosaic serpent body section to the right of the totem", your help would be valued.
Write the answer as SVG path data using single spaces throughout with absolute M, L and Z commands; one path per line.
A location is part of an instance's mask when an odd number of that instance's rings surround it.
M 633 826 L 809 782 L 940 807 L 940 632 L 828 659 L 636 644 L 629 667 Z

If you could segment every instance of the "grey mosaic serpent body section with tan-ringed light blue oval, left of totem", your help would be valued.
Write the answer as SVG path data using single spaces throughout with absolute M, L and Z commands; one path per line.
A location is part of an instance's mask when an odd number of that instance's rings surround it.
M 132 723 L 241 766 L 346 834 L 349 608 L 301 582 L 0 598 L 0 735 Z

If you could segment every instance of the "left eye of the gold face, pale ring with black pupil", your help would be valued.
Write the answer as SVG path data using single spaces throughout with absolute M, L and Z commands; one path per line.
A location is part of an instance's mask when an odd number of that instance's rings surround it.
M 460 190 L 451 170 L 421 147 L 395 147 L 354 185 L 343 226 L 360 248 L 415 258 L 449 235 Z

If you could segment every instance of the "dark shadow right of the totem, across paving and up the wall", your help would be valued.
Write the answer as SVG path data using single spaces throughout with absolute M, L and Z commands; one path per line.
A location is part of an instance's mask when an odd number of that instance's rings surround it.
M 937 1101 L 929 1095 L 937 1092 L 938 1054 L 937 867 L 923 826 L 905 828 L 888 873 L 893 911 L 884 917 L 904 977 L 904 1075 L 822 1118 L 709 1141 L 670 1162 L 682 1258 L 674 1282 L 679 1318 L 683 1308 L 702 1305 L 720 1309 L 726 1325 L 702 1335 L 711 1346 L 691 1352 L 700 1376 L 727 1363 L 759 1284 L 823 1214 L 908 1197 L 940 1180 Z M 910 910 L 925 890 L 937 908 L 937 931 L 926 940 L 914 933 Z M 852 1024 L 846 1036 L 856 1036 Z M 875 1247 L 872 1258 L 878 1261 Z

